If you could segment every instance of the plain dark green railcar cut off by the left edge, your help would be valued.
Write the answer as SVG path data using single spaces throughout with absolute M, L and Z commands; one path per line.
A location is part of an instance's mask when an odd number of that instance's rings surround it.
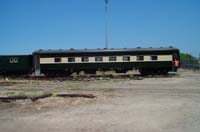
M 32 72 L 32 55 L 0 55 L 0 75 Z

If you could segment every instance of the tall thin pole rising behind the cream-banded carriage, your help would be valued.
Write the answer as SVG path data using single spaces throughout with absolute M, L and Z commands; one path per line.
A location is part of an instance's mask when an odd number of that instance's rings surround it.
M 108 4 L 109 0 L 105 0 L 105 38 L 106 38 L 106 49 L 108 49 Z

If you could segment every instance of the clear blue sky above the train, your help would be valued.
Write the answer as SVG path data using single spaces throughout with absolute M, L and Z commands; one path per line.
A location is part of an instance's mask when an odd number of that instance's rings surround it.
M 110 0 L 108 28 L 109 48 L 198 56 L 200 0 Z M 104 0 L 0 0 L 0 54 L 104 47 Z

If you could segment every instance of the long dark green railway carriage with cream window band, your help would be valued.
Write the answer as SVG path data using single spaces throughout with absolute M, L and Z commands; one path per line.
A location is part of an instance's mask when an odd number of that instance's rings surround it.
M 69 75 L 72 72 L 97 70 L 126 72 L 137 69 L 141 74 L 167 74 L 179 67 L 176 48 L 134 48 L 95 50 L 39 50 L 33 53 L 35 75 Z M 178 62 L 179 63 L 179 62 Z

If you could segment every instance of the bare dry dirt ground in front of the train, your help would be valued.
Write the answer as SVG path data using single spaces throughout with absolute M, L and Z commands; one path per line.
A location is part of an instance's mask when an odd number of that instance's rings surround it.
M 13 82 L 0 83 L 2 96 L 52 92 L 88 93 L 96 98 L 0 102 L 0 132 L 200 131 L 198 72 L 180 70 L 179 76 L 143 80 Z

